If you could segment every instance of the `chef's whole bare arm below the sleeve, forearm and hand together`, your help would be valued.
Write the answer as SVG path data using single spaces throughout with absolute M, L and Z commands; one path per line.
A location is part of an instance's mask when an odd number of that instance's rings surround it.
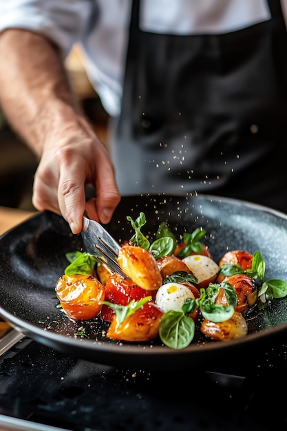
M 120 200 L 114 167 L 103 143 L 80 112 L 59 52 L 41 36 L 0 34 L 0 103 L 16 132 L 40 158 L 32 202 L 61 213 L 74 233 L 83 211 L 109 222 Z M 85 202 L 85 185 L 96 199 Z

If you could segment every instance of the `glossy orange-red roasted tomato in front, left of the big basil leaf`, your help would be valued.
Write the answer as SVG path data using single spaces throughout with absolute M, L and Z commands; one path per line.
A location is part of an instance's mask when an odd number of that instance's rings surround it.
M 158 337 L 160 320 L 164 313 L 153 302 L 146 302 L 122 323 L 114 317 L 107 337 L 124 341 L 149 341 Z

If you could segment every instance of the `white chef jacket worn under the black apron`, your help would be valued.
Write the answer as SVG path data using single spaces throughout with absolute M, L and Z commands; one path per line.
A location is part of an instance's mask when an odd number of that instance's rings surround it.
M 287 11 L 287 0 L 281 0 Z M 67 56 L 79 43 L 87 74 L 111 116 L 120 113 L 131 0 L 0 0 L 0 31 L 24 28 Z M 266 0 L 142 0 L 140 30 L 221 34 L 270 19 Z

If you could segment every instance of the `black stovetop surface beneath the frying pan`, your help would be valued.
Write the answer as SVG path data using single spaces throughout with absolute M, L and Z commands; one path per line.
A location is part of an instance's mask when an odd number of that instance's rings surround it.
M 257 364 L 151 372 L 24 338 L 0 357 L 0 414 L 74 431 L 286 430 L 286 350 L 277 341 Z

